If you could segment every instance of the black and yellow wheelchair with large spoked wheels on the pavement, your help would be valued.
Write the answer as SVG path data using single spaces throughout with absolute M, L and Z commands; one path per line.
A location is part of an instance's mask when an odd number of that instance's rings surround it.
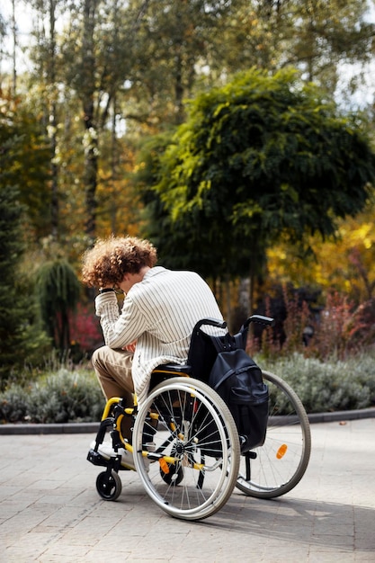
M 251 322 L 271 325 L 254 315 L 241 328 L 244 346 Z M 138 407 L 111 398 L 103 411 L 94 447 L 87 460 L 105 470 L 96 479 L 104 500 L 121 495 L 119 449 L 131 451 L 147 495 L 165 513 L 197 521 L 218 512 L 235 487 L 246 496 L 284 495 L 303 477 L 311 449 L 306 411 L 290 386 L 263 371 L 269 389 L 269 416 L 263 445 L 241 452 L 237 425 L 224 401 L 207 384 L 213 349 L 202 326 L 226 329 L 226 323 L 201 319 L 194 327 L 186 365 L 159 366 L 151 376 L 147 400 Z M 212 328 L 210 328 L 212 330 Z M 206 380 L 206 381 L 205 381 Z M 121 433 L 124 419 L 132 426 L 131 443 Z M 104 458 L 99 447 L 107 432 L 114 453 Z

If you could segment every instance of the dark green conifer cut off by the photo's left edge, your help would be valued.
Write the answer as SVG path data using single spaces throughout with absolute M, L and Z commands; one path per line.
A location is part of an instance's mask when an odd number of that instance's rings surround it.
M 22 369 L 38 362 L 48 348 L 40 329 L 31 280 L 22 277 L 25 250 L 24 207 L 13 173 L 19 139 L 10 116 L 0 121 L 0 388 Z

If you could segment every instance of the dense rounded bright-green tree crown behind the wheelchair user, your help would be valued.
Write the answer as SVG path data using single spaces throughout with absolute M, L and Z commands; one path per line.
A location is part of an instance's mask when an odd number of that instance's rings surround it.
M 253 69 L 190 103 L 152 174 L 159 246 L 177 261 L 195 248 L 206 275 L 254 276 L 281 234 L 333 235 L 337 218 L 362 210 L 375 155 L 358 121 L 294 70 Z

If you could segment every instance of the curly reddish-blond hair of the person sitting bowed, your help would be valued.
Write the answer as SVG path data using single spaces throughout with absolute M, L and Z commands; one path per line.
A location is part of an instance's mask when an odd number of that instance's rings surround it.
M 137 237 L 98 239 L 83 255 L 82 281 L 89 287 L 121 283 L 125 273 L 138 273 L 157 261 L 156 248 Z

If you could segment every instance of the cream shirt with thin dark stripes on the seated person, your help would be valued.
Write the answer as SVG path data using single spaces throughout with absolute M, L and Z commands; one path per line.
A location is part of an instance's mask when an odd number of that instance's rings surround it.
M 105 344 L 122 348 L 137 340 L 132 377 L 138 403 L 147 397 L 156 366 L 186 362 L 192 329 L 201 318 L 222 320 L 216 299 L 201 276 L 162 266 L 151 268 L 132 286 L 121 313 L 112 292 L 98 295 L 95 306 Z

